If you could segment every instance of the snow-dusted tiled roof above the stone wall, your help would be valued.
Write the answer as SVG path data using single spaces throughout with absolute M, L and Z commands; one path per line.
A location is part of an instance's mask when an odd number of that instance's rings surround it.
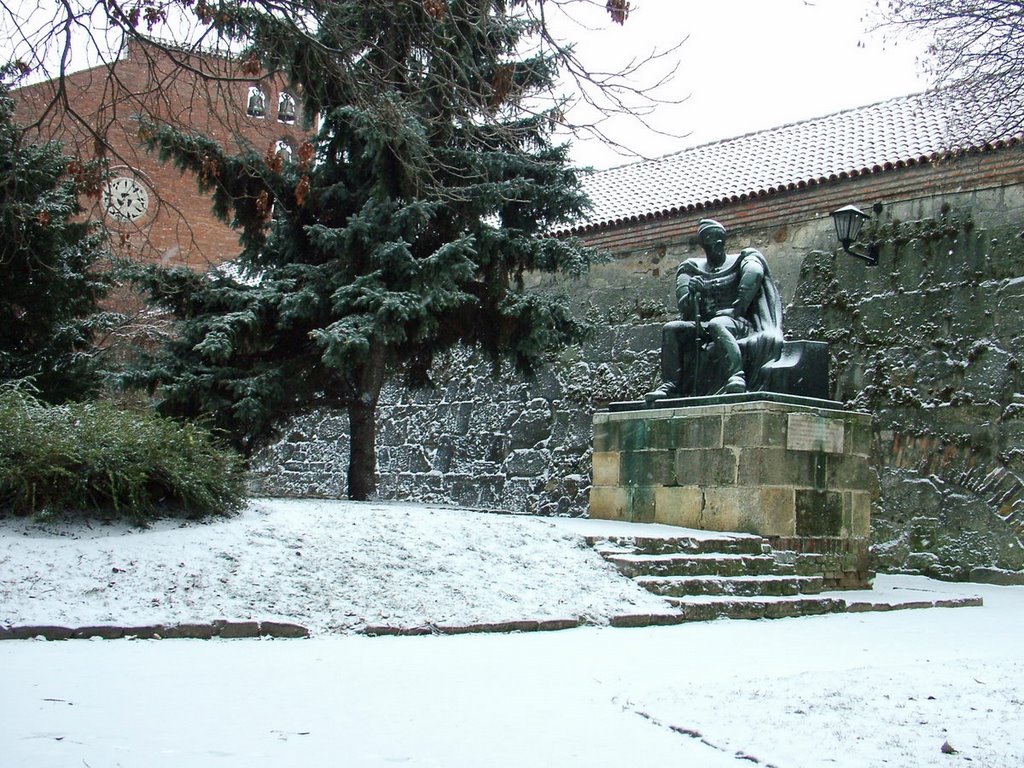
M 598 171 L 584 181 L 593 208 L 574 230 L 929 163 L 951 151 L 952 113 L 941 94 L 920 93 Z M 984 130 L 953 148 L 1021 138 Z

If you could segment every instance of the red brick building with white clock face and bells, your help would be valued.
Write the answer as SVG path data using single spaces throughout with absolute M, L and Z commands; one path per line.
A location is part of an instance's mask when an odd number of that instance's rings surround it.
M 139 146 L 139 115 L 261 155 L 294 152 L 303 137 L 297 94 L 279 78 L 157 41 L 133 41 L 110 65 L 12 95 L 18 122 L 39 138 L 60 140 L 83 160 L 105 158 L 110 180 L 83 204 L 115 236 L 116 250 L 167 265 L 202 269 L 229 260 L 238 236 L 214 217 L 195 177 Z

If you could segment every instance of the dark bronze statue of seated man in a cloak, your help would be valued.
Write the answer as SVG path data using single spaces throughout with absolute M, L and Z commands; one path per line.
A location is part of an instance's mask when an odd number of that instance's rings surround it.
M 666 397 L 757 391 L 761 368 L 782 350 L 782 302 L 760 251 L 725 252 L 725 227 L 701 219 L 705 257 L 676 270 L 681 319 L 662 332 L 662 385 L 648 402 Z

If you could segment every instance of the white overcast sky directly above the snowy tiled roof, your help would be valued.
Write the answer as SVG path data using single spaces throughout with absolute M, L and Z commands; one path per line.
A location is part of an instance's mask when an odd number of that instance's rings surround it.
M 679 71 L 664 105 L 648 119 L 659 136 L 636 120 L 616 120 L 605 131 L 646 157 L 828 115 L 925 90 L 915 58 L 922 41 L 884 40 L 866 32 L 876 0 L 633 0 L 622 27 L 595 8 L 571 26 L 578 52 L 591 67 L 611 69 L 651 48 L 687 37 Z M 601 15 L 603 14 L 603 18 Z M 584 34 L 581 34 L 584 32 Z M 891 37 L 891 35 L 890 35 Z M 580 165 L 607 168 L 632 162 L 597 141 L 574 142 Z

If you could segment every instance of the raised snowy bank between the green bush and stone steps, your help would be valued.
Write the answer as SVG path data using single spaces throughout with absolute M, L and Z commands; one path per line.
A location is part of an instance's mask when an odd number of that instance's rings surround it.
M 206 523 L 0 523 L 0 625 L 276 620 L 314 634 L 665 610 L 564 523 L 256 501 Z

